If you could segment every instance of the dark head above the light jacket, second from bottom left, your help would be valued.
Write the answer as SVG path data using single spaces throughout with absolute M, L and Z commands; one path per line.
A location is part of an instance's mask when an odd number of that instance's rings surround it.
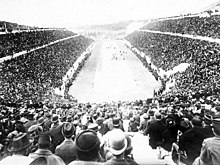
M 43 132 L 39 135 L 38 148 L 49 149 L 51 143 L 51 138 L 49 132 Z

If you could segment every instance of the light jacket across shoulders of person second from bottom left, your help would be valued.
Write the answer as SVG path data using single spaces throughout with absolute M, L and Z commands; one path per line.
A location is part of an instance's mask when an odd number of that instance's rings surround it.
M 34 153 L 31 153 L 29 157 L 32 159 L 45 157 L 47 159 L 47 165 L 65 165 L 64 161 L 59 156 L 47 149 L 38 149 Z

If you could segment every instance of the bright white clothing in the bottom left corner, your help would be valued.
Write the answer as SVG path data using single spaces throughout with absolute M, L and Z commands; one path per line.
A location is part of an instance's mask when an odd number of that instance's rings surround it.
M 29 165 L 32 158 L 23 155 L 12 155 L 0 161 L 0 165 Z

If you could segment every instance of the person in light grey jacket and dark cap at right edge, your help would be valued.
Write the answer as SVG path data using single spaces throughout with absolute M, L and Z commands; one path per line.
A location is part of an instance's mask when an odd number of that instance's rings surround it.
M 200 156 L 193 165 L 220 164 L 220 118 L 214 118 L 212 122 L 215 136 L 203 141 Z

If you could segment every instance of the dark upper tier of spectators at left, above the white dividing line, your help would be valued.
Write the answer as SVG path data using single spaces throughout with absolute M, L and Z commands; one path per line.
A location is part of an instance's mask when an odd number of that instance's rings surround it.
M 23 31 L 2 34 L 0 35 L 0 58 L 74 35 L 76 34 L 68 30 Z

